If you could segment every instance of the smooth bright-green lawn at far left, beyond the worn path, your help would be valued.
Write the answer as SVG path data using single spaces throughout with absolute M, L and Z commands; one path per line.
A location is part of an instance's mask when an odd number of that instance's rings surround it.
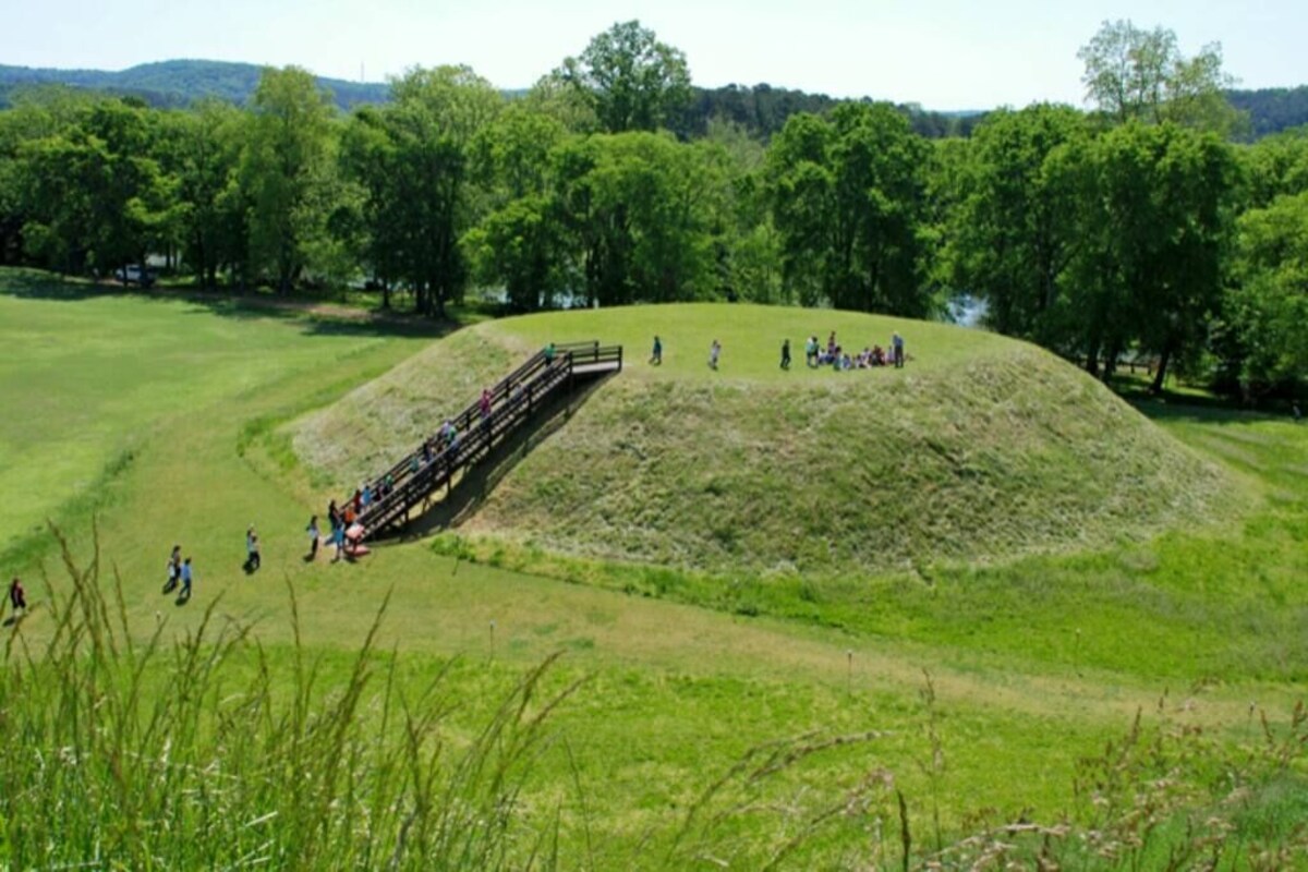
M 288 343 L 314 324 L 251 311 L 220 318 L 184 301 L 84 295 L 30 273 L 4 280 L 22 286 L 21 295 L 0 294 L 0 396 L 8 407 L 0 478 L 21 495 L 0 501 L 7 536 L 39 532 L 69 499 L 81 497 L 88 509 L 161 422 L 215 403 L 241 417 L 260 386 L 297 374 L 313 394 L 334 367 L 379 344 L 348 331 Z

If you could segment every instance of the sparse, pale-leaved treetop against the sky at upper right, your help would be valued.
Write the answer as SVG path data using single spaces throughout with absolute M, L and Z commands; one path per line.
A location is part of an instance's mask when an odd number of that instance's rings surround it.
M 1171 30 L 1105 21 L 1076 56 L 1087 99 L 1118 124 L 1175 122 L 1227 135 L 1241 123 L 1224 94 L 1235 80 L 1222 69 L 1219 43 L 1185 58 Z

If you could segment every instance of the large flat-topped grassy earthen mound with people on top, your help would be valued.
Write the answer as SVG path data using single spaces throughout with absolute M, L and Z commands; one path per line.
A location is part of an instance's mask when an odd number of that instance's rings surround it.
M 803 340 L 829 329 L 854 349 L 899 329 L 913 360 L 897 371 L 810 370 Z M 654 333 L 659 367 L 642 360 Z M 483 324 L 301 422 L 297 448 L 348 482 L 547 339 L 583 337 L 623 341 L 627 371 L 518 464 L 463 532 L 710 573 L 852 574 L 1152 533 L 1206 518 L 1231 493 L 1215 467 L 1040 349 L 794 309 Z M 725 348 L 718 371 L 706 365 L 713 339 Z M 358 438 L 334 442 L 337 433 Z

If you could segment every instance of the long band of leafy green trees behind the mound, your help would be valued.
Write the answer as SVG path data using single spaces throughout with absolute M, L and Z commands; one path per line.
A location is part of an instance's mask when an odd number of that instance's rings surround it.
M 207 288 L 369 280 L 441 316 L 747 299 L 933 316 L 969 297 L 1003 333 L 1093 373 L 1127 357 L 1249 396 L 1308 375 L 1308 133 L 1233 143 L 1220 51 L 1105 22 L 1096 110 L 988 115 L 927 139 L 910 112 L 742 112 L 671 128 L 685 58 L 615 25 L 509 99 L 415 68 L 340 114 L 298 68 L 250 105 L 162 110 L 31 92 L 0 114 L 0 260 L 109 276 L 165 256 Z M 756 97 L 756 95 L 753 95 Z M 763 122 L 764 124 L 766 122 Z

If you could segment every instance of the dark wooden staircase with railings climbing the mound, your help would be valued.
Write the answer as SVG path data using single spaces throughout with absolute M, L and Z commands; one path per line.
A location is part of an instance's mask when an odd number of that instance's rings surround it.
M 598 341 L 553 345 L 536 352 L 526 363 L 498 382 L 490 391 L 490 412 L 483 414 L 480 397 L 450 418 L 458 439 L 450 447 L 439 434 L 429 438 L 430 452 L 420 446 L 388 471 L 377 476 L 377 485 L 390 476 L 392 486 L 374 498 L 356 519 L 362 527 L 358 541 L 374 539 L 391 527 L 403 526 L 409 511 L 428 502 L 442 488 L 453 488 L 463 472 L 485 460 L 505 439 L 522 429 L 536 412 L 557 396 L 572 392 L 577 379 L 616 373 L 623 369 L 623 346 Z M 428 456 L 424 456 L 424 455 Z M 341 505 L 348 505 L 347 498 Z

